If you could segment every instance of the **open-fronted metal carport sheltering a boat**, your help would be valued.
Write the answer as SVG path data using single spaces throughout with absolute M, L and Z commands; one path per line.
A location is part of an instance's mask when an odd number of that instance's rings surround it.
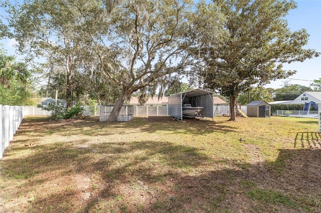
M 197 88 L 169 97 L 169 116 L 183 120 L 184 105 L 189 105 L 191 108 L 200 107 L 202 109 L 200 112 L 195 113 L 196 116 L 211 117 L 214 120 L 213 92 Z

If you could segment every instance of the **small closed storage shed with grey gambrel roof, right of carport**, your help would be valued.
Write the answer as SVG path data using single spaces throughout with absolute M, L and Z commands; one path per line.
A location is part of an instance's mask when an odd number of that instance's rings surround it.
M 247 104 L 247 116 L 249 117 L 270 117 L 271 105 L 264 100 L 252 101 Z

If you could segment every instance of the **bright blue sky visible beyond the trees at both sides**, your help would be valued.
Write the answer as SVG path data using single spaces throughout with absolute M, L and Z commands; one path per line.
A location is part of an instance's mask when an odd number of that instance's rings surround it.
M 290 10 L 285 17 L 288 20 L 288 27 L 292 30 L 305 28 L 310 34 L 309 43 L 305 48 L 316 49 L 321 52 L 321 0 L 296 0 L 297 8 Z M 0 14 L 3 14 L 3 9 L 0 8 Z M 4 48 L 9 54 L 15 54 L 15 49 L 12 46 L 14 40 L 0 40 L 4 44 Z M 18 58 L 20 58 L 18 56 Z M 285 69 L 297 70 L 297 73 L 290 78 L 279 79 L 265 85 L 265 87 L 280 88 L 284 85 L 284 81 L 289 84 L 301 84 L 309 86 L 313 79 L 321 77 L 321 56 L 317 58 L 307 59 L 304 62 L 295 62 L 284 64 Z M 296 80 L 300 79 L 300 80 Z

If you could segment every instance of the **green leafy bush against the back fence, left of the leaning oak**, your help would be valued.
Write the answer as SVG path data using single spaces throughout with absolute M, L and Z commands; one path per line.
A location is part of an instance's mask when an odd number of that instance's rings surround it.
M 38 108 L 43 110 L 51 111 L 49 119 L 52 120 L 61 120 L 61 119 L 78 119 L 84 116 L 85 108 L 80 105 L 75 105 L 71 108 L 67 108 L 62 105 L 60 102 L 57 105 L 48 105 L 44 106 L 41 104 L 37 105 Z

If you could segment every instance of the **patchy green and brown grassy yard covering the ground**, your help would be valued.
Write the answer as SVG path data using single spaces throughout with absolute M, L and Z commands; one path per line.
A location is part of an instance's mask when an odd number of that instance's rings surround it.
M 317 119 L 227 119 L 26 117 L 0 211 L 321 212 Z

